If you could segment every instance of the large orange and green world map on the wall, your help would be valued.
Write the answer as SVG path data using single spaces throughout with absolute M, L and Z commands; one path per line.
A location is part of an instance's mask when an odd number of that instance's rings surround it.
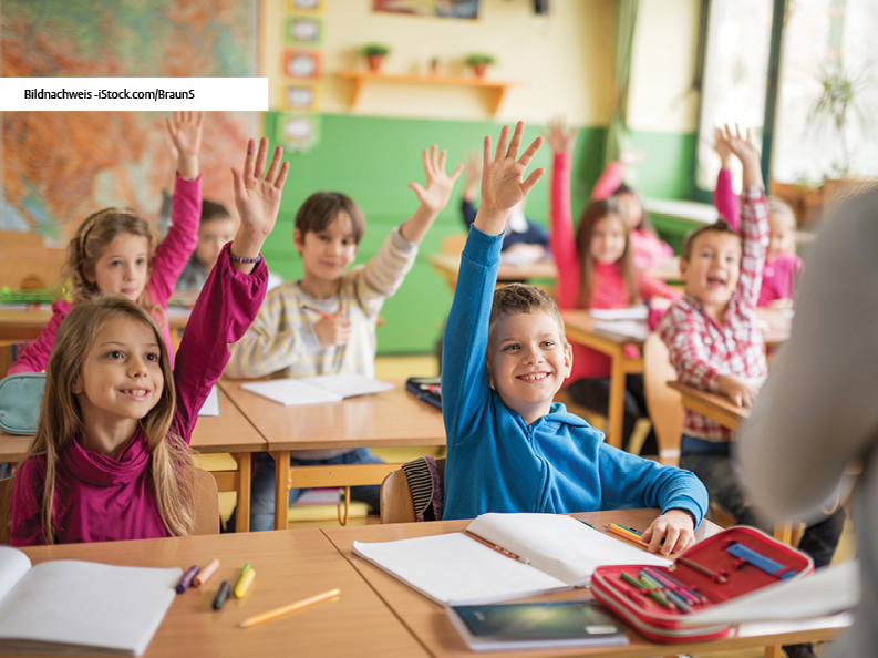
M 4 0 L 2 74 L 14 78 L 249 76 L 255 0 Z M 155 222 L 174 161 L 168 112 L 3 112 L 0 229 L 65 240 L 91 213 L 132 208 Z M 231 206 L 257 113 L 209 112 L 205 198 Z

